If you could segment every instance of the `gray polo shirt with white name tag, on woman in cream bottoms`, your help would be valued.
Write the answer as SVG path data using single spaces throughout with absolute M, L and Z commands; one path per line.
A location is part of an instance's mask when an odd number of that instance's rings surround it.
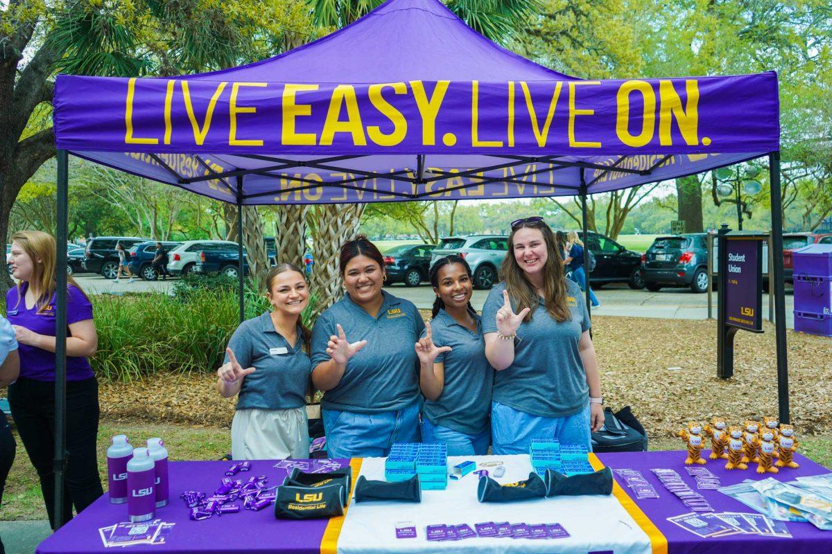
M 228 347 L 243 368 L 254 367 L 245 375 L 237 409 L 290 409 L 306 404 L 310 379 L 310 357 L 303 350 L 303 331 L 298 326 L 295 346 L 275 331 L 270 312 L 243 321 Z M 225 355 L 228 362 L 228 354 Z

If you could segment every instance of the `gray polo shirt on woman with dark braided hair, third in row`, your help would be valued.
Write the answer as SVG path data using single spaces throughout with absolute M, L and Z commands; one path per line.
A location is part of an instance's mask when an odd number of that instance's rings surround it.
M 494 380 L 494 370 L 485 358 L 483 322 L 480 316 L 474 315 L 474 319 L 477 332 L 459 325 L 444 310 L 430 322 L 433 344 L 453 350 L 437 356 L 436 362 L 445 369 L 442 394 L 436 400 L 425 400 L 422 409 L 432 424 L 465 434 L 488 429 Z

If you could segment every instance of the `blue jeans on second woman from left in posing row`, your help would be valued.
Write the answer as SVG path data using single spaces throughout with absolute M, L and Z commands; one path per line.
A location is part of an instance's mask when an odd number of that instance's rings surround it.
M 322 409 L 329 458 L 379 458 L 394 443 L 418 443 L 421 404 L 378 414 Z

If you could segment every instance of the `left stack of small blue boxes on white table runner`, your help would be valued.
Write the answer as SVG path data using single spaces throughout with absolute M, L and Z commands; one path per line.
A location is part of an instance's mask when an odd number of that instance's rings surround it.
M 387 481 L 406 481 L 418 473 L 422 490 L 448 488 L 448 449 L 444 443 L 397 443 L 384 462 Z

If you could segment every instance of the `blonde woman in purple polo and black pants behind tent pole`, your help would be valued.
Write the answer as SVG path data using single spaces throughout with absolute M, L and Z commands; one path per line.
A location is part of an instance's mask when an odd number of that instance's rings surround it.
M 20 439 L 41 481 L 43 501 L 55 527 L 55 316 L 57 245 L 42 231 L 12 235 L 9 263 L 17 287 L 6 294 L 6 313 L 15 331 L 20 376 L 8 387 L 8 403 Z M 60 248 L 67 248 L 62 244 Z M 65 271 L 62 269 L 62 271 Z M 98 477 L 98 383 L 88 356 L 98 336 L 92 304 L 67 275 L 67 468 L 62 521 L 72 519 L 103 493 Z

